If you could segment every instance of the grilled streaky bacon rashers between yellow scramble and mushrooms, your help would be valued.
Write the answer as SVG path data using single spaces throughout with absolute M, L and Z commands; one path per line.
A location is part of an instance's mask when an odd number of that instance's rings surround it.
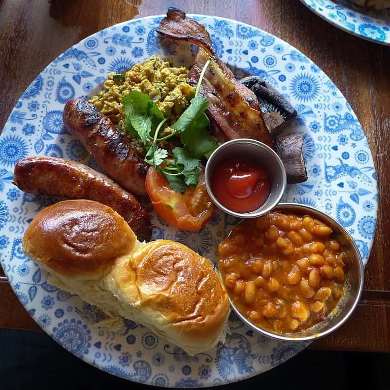
M 252 138 L 272 147 L 255 94 L 239 83 L 226 64 L 216 57 L 206 28 L 186 18 L 183 11 L 169 8 L 167 17 L 161 20 L 156 31 L 165 37 L 200 46 L 188 76 L 191 85 L 197 85 L 202 69 L 211 57 L 200 94 L 210 101 L 207 114 L 218 140 Z

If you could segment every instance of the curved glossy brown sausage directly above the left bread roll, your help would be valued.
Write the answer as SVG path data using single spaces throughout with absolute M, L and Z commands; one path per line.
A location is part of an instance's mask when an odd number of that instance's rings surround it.
M 150 217 L 138 200 L 84 164 L 48 156 L 22 158 L 15 165 L 14 184 L 26 192 L 101 202 L 119 213 L 140 241 L 152 235 Z

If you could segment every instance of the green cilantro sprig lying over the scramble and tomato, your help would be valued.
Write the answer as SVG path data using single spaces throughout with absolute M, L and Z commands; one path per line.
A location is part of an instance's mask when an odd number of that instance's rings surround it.
M 185 191 L 185 186 L 196 187 L 201 171 L 202 157 L 209 157 L 217 147 L 217 139 L 207 131 L 210 125 L 205 114 L 210 102 L 199 95 L 202 80 L 209 66 L 208 60 L 202 70 L 194 98 L 179 119 L 171 126 L 172 133 L 158 137 L 170 117 L 164 117 L 149 95 L 132 91 L 123 96 L 125 131 L 140 138 L 146 148 L 145 162 L 154 166 L 168 180 L 175 191 Z M 160 141 L 180 135 L 182 146 L 168 150 L 158 146 Z

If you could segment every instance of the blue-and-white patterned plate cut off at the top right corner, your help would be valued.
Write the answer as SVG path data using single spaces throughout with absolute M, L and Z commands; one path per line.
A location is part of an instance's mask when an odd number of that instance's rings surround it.
M 349 0 L 301 0 L 322 19 L 352 35 L 390 45 L 390 9 L 366 10 Z

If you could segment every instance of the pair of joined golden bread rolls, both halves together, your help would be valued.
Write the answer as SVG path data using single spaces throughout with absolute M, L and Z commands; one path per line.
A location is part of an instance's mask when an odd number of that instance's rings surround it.
M 29 224 L 22 248 L 50 273 L 49 283 L 188 353 L 224 338 L 228 294 L 207 259 L 170 240 L 140 243 L 108 206 L 76 200 L 47 207 Z

